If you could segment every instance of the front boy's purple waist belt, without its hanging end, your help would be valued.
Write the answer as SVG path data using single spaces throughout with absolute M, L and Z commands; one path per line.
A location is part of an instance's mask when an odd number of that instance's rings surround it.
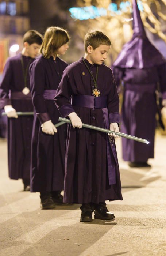
M 107 96 L 74 95 L 72 96 L 72 105 L 96 109 L 107 108 Z

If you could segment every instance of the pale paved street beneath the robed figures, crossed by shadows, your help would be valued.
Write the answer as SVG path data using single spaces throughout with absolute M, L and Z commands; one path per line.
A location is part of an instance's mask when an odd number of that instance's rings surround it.
M 107 202 L 116 218 L 79 223 L 80 205 L 40 210 L 39 193 L 9 180 L 7 143 L 0 140 L 0 256 L 165 256 L 166 136 L 157 134 L 152 168 L 121 160 L 123 201 Z

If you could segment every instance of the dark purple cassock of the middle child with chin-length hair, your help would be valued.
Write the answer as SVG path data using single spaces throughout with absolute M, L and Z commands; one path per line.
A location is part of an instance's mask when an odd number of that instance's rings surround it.
M 59 111 L 54 96 L 67 63 L 58 57 L 49 59 L 39 56 L 30 65 L 30 85 L 34 105 L 32 131 L 31 192 L 61 191 L 64 187 L 65 147 L 67 125 L 48 135 L 41 124 L 51 120 L 58 123 Z

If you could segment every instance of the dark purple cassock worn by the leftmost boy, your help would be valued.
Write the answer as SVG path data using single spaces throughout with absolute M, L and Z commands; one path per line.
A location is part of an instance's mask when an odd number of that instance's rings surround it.
M 16 111 L 31 112 L 33 111 L 31 93 L 27 95 L 22 93 L 25 83 L 21 58 L 25 69 L 34 61 L 34 59 L 21 54 L 7 60 L 0 85 L 0 107 L 12 105 Z M 26 84 L 30 89 L 28 74 Z M 33 116 L 8 118 L 8 167 L 11 179 L 30 179 L 32 125 Z

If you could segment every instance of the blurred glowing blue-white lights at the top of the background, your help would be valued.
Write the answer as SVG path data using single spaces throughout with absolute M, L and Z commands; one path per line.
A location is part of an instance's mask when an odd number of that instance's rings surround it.
M 143 5 L 140 0 L 138 0 L 138 8 L 140 11 L 143 11 Z M 128 9 L 130 10 L 130 12 L 132 12 L 131 3 L 129 1 L 126 1 L 120 3 L 119 9 L 117 4 L 111 3 L 108 6 L 108 10 L 105 8 L 98 8 L 91 5 L 86 7 L 72 7 L 69 9 L 69 11 L 73 19 L 87 20 L 107 16 L 108 11 L 111 16 L 120 15 L 122 14 L 122 12 L 126 12 Z

